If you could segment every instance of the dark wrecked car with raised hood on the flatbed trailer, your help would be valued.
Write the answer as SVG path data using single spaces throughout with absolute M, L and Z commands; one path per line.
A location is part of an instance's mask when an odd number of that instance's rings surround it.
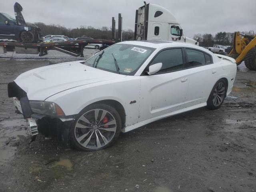
M 6 13 L 0 13 L 0 38 L 12 39 L 24 43 L 40 41 L 41 30 L 36 26 L 28 26 L 22 16 L 22 6 L 14 4 L 16 19 Z

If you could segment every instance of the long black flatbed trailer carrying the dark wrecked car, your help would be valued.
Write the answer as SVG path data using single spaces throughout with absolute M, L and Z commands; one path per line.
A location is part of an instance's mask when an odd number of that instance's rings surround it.
M 115 40 L 104 39 L 86 39 L 63 42 L 41 42 L 41 43 L 23 43 L 23 42 L 0 42 L 0 53 L 13 52 L 26 54 L 39 54 L 44 56 L 48 54 L 48 50 L 57 50 L 75 57 L 84 57 L 84 47 L 88 44 L 115 44 Z

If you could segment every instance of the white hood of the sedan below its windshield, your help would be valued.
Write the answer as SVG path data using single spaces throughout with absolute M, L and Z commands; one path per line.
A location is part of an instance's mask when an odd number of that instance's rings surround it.
M 29 70 L 14 82 L 27 93 L 29 100 L 46 98 L 74 87 L 124 78 L 120 75 L 81 64 L 84 61 L 66 62 Z

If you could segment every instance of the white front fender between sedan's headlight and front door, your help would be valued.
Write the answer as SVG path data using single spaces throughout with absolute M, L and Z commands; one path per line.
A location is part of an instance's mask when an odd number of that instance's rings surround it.
M 140 76 L 79 86 L 50 96 L 45 101 L 58 104 L 65 115 L 69 116 L 76 115 L 86 106 L 102 100 L 114 100 L 124 107 L 126 126 L 137 123 L 140 103 Z

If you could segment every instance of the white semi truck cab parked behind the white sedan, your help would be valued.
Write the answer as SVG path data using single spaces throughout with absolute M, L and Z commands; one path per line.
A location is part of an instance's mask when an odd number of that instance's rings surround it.
M 199 45 L 198 41 L 183 36 L 178 20 L 166 8 L 146 4 L 136 10 L 135 40 L 164 40 Z

